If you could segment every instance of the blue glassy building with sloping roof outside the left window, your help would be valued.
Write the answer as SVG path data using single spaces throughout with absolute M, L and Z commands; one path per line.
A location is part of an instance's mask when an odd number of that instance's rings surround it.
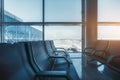
M 22 19 L 5 11 L 5 22 L 23 22 Z M 4 25 L 5 42 L 37 41 L 42 39 L 42 31 L 31 25 Z

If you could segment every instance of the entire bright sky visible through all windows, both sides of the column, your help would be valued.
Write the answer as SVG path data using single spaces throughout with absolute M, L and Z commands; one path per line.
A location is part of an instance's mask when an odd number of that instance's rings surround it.
M 42 21 L 42 0 L 4 0 L 4 3 L 6 11 L 16 15 L 25 22 Z M 98 0 L 98 21 L 120 22 L 119 8 L 120 0 Z M 45 0 L 45 21 L 81 22 L 81 18 L 81 0 Z M 119 38 L 120 29 L 117 28 L 118 26 L 111 27 L 99 28 L 98 37 Z M 47 26 L 46 36 L 48 38 L 77 39 L 78 37 L 81 38 L 81 28 L 73 28 L 73 26 Z

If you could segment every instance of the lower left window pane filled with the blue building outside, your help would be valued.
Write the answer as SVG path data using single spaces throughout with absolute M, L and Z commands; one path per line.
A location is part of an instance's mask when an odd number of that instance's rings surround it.
M 13 43 L 19 41 L 37 41 L 42 40 L 42 27 L 32 25 L 9 25 L 4 28 L 4 41 Z

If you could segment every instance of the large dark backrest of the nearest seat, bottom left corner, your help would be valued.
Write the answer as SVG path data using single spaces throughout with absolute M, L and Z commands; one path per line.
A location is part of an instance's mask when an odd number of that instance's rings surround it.
M 0 44 L 0 80 L 34 80 L 24 44 Z

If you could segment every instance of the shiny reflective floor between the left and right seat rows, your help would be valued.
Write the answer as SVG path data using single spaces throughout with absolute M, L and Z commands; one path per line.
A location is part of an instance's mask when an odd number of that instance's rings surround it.
M 120 80 L 120 73 L 97 61 L 82 64 L 81 53 L 71 53 L 70 56 L 81 80 Z

